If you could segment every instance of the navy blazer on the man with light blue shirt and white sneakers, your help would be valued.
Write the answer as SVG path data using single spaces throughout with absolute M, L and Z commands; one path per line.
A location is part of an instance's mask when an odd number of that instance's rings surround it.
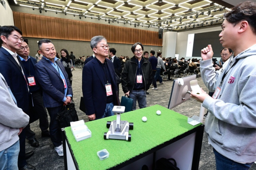
M 57 60 L 56 63 L 60 67 L 67 82 L 67 94 L 72 94 L 72 88 L 68 80 L 68 74 L 62 63 Z M 45 107 L 58 107 L 63 105 L 65 96 L 65 88 L 63 80 L 57 70 L 44 57 L 35 65 L 35 76 L 43 90 L 43 100 Z

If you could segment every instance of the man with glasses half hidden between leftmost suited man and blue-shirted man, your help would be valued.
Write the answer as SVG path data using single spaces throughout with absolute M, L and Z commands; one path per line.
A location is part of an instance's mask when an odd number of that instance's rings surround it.
M 29 56 L 29 41 L 23 38 L 24 41 L 19 50 L 17 50 L 17 54 L 20 57 L 20 60 L 23 63 L 25 68 L 25 76 L 29 81 L 29 92 L 30 92 L 30 102 L 29 102 L 29 115 L 30 119 L 32 117 L 39 117 L 39 127 L 42 131 L 42 137 L 50 137 L 48 127 L 48 116 L 46 113 L 46 109 L 44 107 L 44 102 L 42 98 L 42 89 L 38 83 L 37 77 L 35 77 L 35 69 L 34 66 L 37 63 L 37 59 Z M 38 118 L 37 118 L 38 119 Z M 30 120 L 32 123 L 34 120 Z M 35 133 L 30 130 L 30 124 L 26 127 L 26 139 L 29 140 L 29 143 L 32 147 L 38 147 L 39 143 L 35 138 Z

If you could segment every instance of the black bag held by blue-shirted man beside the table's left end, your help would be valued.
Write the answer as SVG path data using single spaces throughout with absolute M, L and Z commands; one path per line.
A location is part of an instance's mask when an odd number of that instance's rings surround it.
M 56 120 L 58 121 L 60 128 L 70 126 L 71 121 L 78 121 L 75 104 L 69 103 L 68 105 L 64 105 L 60 112 L 57 113 Z

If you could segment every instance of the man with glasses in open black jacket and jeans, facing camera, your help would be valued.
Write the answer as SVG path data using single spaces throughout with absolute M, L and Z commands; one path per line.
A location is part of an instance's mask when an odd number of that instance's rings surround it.
M 132 45 L 131 50 L 134 56 L 124 65 L 121 83 L 125 95 L 133 99 L 132 110 L 134 111 L 137 100 L 140 109 L 147 107 L 146 91 L 153 77 L 151 63 L 142 57 L 143 45 L 137 42 Z

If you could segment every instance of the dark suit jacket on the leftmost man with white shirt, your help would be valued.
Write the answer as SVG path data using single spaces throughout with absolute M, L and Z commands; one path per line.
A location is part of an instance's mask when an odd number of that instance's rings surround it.
M 25 72 L 19 56 L 17 56 L 17 58 L 23 69 L 23 72 Z M 5 81 L 14 94 L 14 97 L 17 101 L 17 106 L 21 108 L 23 112 L 27 113 L 29 109 L 29 93 L 27 82 L 18 63 L 3 47 L 0 48 L 0 73 L 4 76 Z

